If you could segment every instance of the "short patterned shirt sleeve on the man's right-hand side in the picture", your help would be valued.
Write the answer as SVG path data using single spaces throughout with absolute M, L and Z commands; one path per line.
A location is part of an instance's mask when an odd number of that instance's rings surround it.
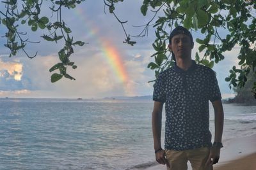
M 210 83 L 209 84 L 209 89 L 210 89 L 209 90 L 209 100 L 211 102 L 214 102 L 214 101 L 221 99 L 220 88 L 219 88 L 216 74 L 214 73 L 214 71 L 212 71 L 212 73 L 211 73 L 209 83 Z

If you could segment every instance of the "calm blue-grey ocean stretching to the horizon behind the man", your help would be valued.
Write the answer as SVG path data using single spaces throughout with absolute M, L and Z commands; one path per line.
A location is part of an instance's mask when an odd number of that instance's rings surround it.
M 256 133 L 256 106 L 223 107 L 224 146 L 232 138 Z M 152 108 L 149 100 L 2 98 L 0 169 L 127 170 L 154 165 Z M 213 125 L 210 107 L 212 132 Z

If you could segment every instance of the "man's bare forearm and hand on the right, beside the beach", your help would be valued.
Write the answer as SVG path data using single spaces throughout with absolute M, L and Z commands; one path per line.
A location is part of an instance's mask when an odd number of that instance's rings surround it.
M 214 108 L 214 141 L 221 142 L 222 133 L 223 133 L 223 122 L 224 122 L 224 113 L 221 99 L 212 102 Z M 216 164 L 220 159 L 220 147 L 212 147 L 207 160 L 207 165 Z

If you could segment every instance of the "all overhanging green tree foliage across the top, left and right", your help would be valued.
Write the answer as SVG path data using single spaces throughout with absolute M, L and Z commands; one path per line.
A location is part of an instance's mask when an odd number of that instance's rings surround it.
M 31 31 L 47 29 L 49 34 L 43 35 L 42 38 L 54 42 L 60 41 L 60 39 L 65 41 L 65 45 L 58 52 L 61 62 L 49 70 L 58 69 L 60 73 L 52 74 L 51 81 L 58 81 L 63 76 L 74 80 L 67 74 L 68 66 L 76 69 L 74 62 L 69 60 L 70 55 L 74 52 L 73 46 L 82 46 L 84 43 L 74 42 L 73 38 L 70 38 L 71 30 L 61 18 L 61 9 L 76 8 L 81 1 L 22 0 L 19 3 L 17 0 L 3 1 L 6 11 L 0 11 L 0 21 L 8 30 L 5 34 L 5 46 L 10 49 L 10 56 L 16 55 L 17 50 L 20 49 L 26 53 L 24 47 L 26 43 L 30 42 L 23 38 L 26 36 L 26 32 L 19 32 L 19 24 L 27 24 L 31 27 Z M 115 4 L 123 0 L 103 1 L 109 13 L 113 13 L 122 25 L 125 32 L 124 43 L 134 45 L 136 41 L 131 41 L 132 36 L 125 31 L 124 24 L 127 21 L 121 21 L 115 14 Z M 57 13 L 55 22 L 49 22 L 49 18 L 40 16 L 40 9 L 45 2 L 51 3 L 49 6 L 51 13 Z M 18 10 L 19 8 L 21 10 Z M 197 31 L 204 35 L 204 38 L 196 39 L 200 46 L 195 54 L 195 60 L 199 64 L 213 67 L 214 63 L 225 59 L 224 52 L 239 46 L 240 51 L 236 56 L 239 60 L 239 67 L 232 67 L 230 75 L 225 80 L 230 82 L 230 88 L 244 87 L 248 73 L 255 72 L 256 67 L 255 9 L 256 2 L 253 0 L 144 0 L 140 8 L 141 13 L 146 16 L 151 12 L 154 13 L 154 17 L 143 25 L 143 30 L 138 36 L 146 36 L 151 25 L 156 34 L 156 40 L 152 43 L 156 53 L 151 56 L 154 57 L 154 62 L 150 62 L 148 68 L 155 71 L 157 76 L 164 69 L 173 66 L 171 53 L 167 47 L 169 32 L 177 25 L 184 25 L 191 32 Z M 28 55 L 28 53 L 26 54 Z M 28 55 L 28 57 L 30 56 Z M 35 55 L 30 58 L 33 57 Z M 255 84 L 252 90 L 256 93 Z

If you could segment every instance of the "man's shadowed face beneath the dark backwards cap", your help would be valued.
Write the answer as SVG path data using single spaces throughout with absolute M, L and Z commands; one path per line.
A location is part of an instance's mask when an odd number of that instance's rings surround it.
M 177 34 L 172 38 L 172 44 L 169 45 L 170 50 L 174 53 L 176 59 L 191 58 L 191 50 L 194 43 L 191 44 L 191 39 L 185 34 Z

